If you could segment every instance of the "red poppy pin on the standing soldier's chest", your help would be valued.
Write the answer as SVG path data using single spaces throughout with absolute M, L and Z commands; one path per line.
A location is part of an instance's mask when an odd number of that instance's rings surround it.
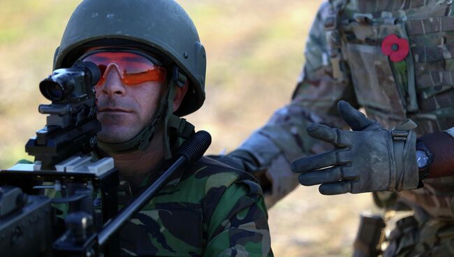
M 389 34 L 381 43 L 381 52 L 394 62 L 403 61 L 409 54 L 409 50 L 409 41 L 399 38 L 396 34 Z

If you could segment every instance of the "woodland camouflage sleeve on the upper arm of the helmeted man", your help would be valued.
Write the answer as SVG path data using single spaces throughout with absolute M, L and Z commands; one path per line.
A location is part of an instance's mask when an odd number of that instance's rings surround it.
M 260 187 L 249 180 L 230 185 L 214 209 L 207 234 L 203 256 L 272 256 Z

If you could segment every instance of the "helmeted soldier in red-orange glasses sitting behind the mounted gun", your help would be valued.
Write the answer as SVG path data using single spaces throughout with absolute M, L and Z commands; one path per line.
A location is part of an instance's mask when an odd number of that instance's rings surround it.
M 205 100 L 205 50 L 175 1 L 85 0 L 66 26 L 54 69 L 76 60 L 101 70 L 97 154 L 115 160 L 124 205 L 193 134 L 180 117 Z M 122 229 L 122 255 L 272 256 L 253 179 L 207 157 L 196 161 Z

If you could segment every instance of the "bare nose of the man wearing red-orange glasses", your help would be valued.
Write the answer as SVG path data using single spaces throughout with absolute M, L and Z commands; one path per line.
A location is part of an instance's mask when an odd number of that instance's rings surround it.
M 103 92 L 103 94 L 112 96 L 124 95 L 126 93 L 126 87 L 124 87 L 122 82 L 122 73 L 117 64 L 109 64 L 109 66 L 105 68 L 103 78 L 105 79 L 104 83 L 98 86 L 101 87 L 101 92 Z M 99 91 L 99 89 L 96 91 Z

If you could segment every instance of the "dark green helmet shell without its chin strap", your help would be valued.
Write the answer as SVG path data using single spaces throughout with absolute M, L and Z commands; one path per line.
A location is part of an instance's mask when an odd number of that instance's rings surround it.
M 196 27 L 173 0 L 85 0 L 75 9 L 54 55 L 54 69 L 68 67 L 93 45 L 142 45 L 170 59 L 189 78 L 175 115 L 205 101 L 205 48 Z

